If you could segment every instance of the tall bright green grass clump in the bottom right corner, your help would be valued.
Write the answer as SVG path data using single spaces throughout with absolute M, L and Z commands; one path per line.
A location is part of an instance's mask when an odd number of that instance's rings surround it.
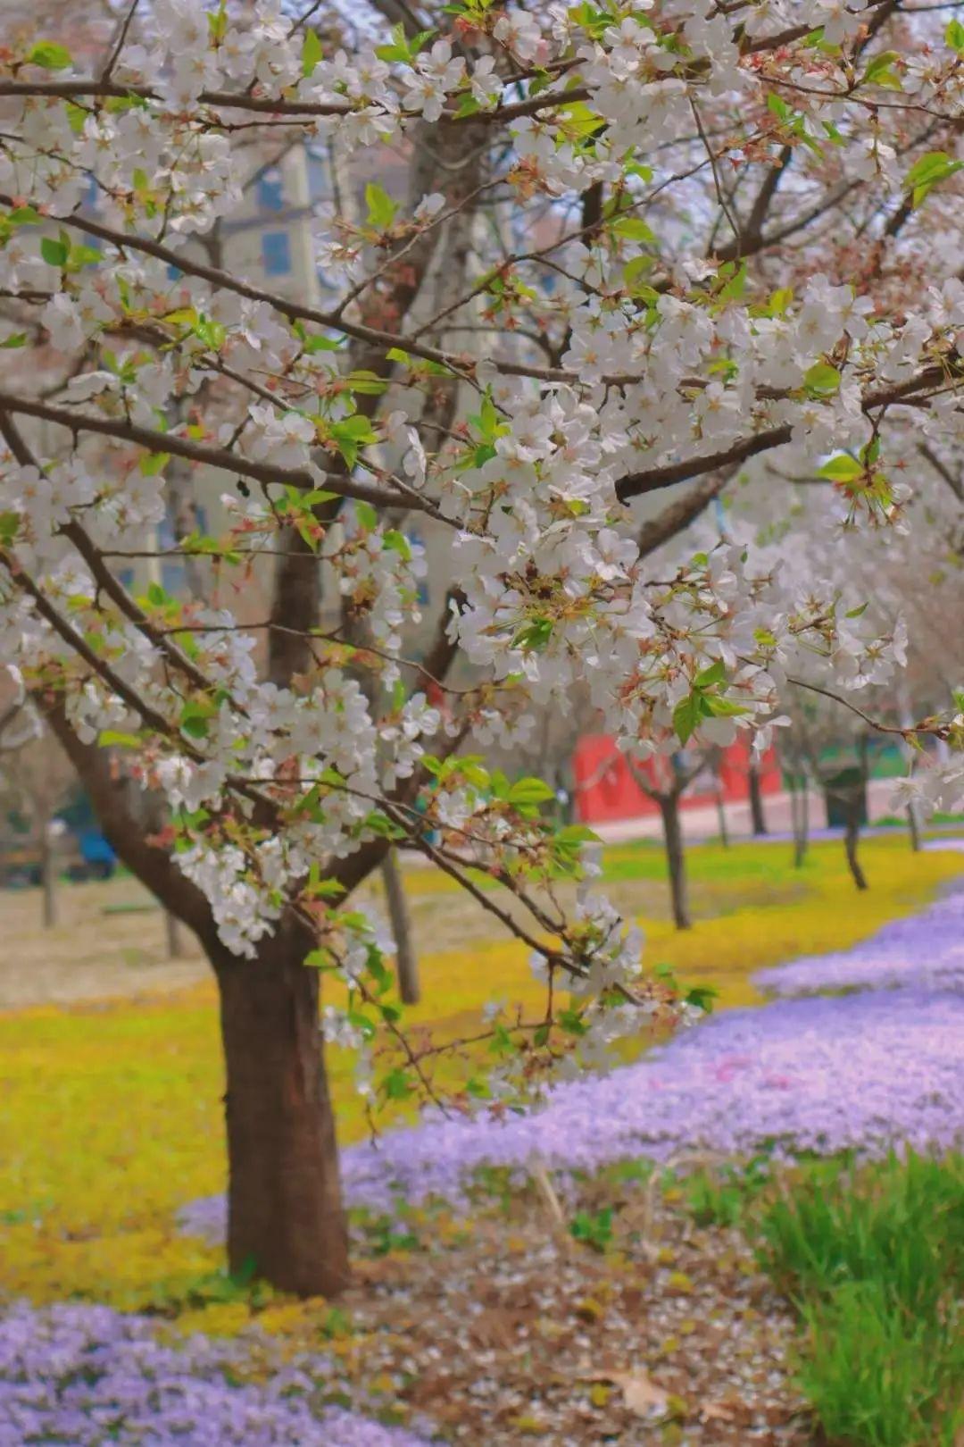
M 840 1447 L 954 1447 L 964 1428 L 964 1156 L 812 1166 L 756 1220 L 796 1302 L 799 1382 Z

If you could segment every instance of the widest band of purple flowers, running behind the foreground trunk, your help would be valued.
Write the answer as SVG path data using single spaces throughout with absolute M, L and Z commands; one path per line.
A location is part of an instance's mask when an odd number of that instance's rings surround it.
M 530 1116 L 423 1120 L 348 1147 L 356 1205 L 457 1200 L 480 1166 L 533 1156 L 594 1171 L 627 1156 L 705 1147 L 882 1152 L 964 1137 L 964 994 L 900 990 L 730 1010 L 611 1075 L 558 1085 Z M 223 1233 L 223 1200 L 197 1201 L 185 1230 Z

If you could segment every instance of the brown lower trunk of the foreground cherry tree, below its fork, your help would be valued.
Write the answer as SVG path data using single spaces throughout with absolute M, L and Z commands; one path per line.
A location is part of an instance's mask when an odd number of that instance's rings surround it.
M 227 1071 L 228 1266 L 299 1297 L 348 1282 L 318 971 L 292 929 L 212 958 Z

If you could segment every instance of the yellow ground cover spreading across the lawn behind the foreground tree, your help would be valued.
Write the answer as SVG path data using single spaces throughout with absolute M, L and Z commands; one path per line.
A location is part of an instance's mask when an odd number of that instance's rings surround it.
M 649 962 L 671 964 L 687 984 L 714 985 L 727 1007 L 759 998 L 749 983 L 754 969 L 847 948 L 919 907 L 963 862 L 960 854 L 913 855 L 905 839 L 879 838 L 864 844 L 863 860 L 872 888 L 858 894 L 840 844 L 814 845 L 799 871 L 782 845 L 692 849 L 702 917 L 685 933 L 665 917 L 656 848 L 611 849 L 606 873 L 623 907 L 637 897 L 647 913 L 662 913 L 643 919 Z M 425 922 L 432 910 L 470 907 L 434 871 L 412 870 L 406 880 Z M 423 928 L 423 945 L 431 938 Z M 412 1023 L 431 1023 L 449 1037 L 477 1019 L 486 998 L 533 1007 L 541 998 L 528 952 L 513 942 L 480 936 L 471 946 L 423 955 L 421 969 L 425 1003 Z M 351 1059 L 331 1052 L 330 1068 L 340 1137 L 348 1143 L 367 1129 Z M 188 1311 L 197 1321 L 221 1256 L 178 1236 L 175 1213 L 224 1185 L 223 1090 L 208 984 L 168 997 L 0 1014 L 0 1292 Z M 225 1310 L 201 1317 L 214 1324 Z M 230 1314 L 244 1310 L 230 1307 Z

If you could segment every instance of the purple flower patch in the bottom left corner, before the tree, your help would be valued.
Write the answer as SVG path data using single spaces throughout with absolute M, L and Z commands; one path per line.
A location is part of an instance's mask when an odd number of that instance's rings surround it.
M 165 1346 L 108 1307 L 17 1304 L 0 1315 L 0 1447 L 428 1447 L 340 1409 L 315 1415 L 324 1359 L 228 1382 L 243 1363 L 240 1343 Z

